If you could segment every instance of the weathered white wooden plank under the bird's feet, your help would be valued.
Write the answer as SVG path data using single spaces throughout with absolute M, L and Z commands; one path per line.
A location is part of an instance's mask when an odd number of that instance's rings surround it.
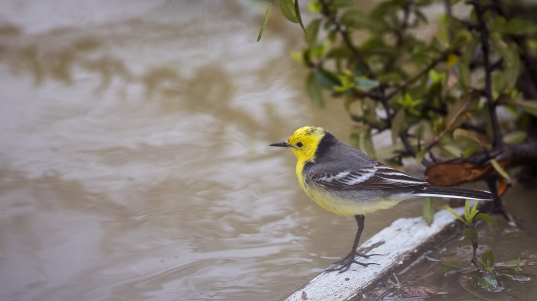
M 462 215 L 464 208 L 455 208 Z M 353 265 L 347 272 L 323 272 L 306 286 L 289 296 L 286 301 L 338 300 L 345 301 L 367 292 L 379 281 L 386 280 L 391 273 L 416 260 L 423 251 L 436 247 L 446 238 L 459 233 L 458 221 L 448 210 L 434 215 L 434 223 L 428 226 L 423 217 L 398 219 L 360 246 L 361 253 L 382 254 L 361 262 L 379 265 L 362 267 Z M 305 295 L 304 295 L 305 294 Z

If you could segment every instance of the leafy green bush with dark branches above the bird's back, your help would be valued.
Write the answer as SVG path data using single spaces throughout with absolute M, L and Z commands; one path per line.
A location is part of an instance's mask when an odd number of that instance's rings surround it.
M 430 20 L 425 10 L 436 5 L 430 0 L 386 0 L 368 12 L 352 0 L 313 0 L 307 3 L 313 19 L 302 24 L 299 2 L 280 0 L 285 18 L 304 30 L 307 47 L 292 56 L 310 70 L 312 103 L 326 106 L 326 92 L 342 97 L 359 129 L 351 133 L 359 136 L 354 146 L 368 155 L 376 155 L 369 140 L 386 130 L 395 156 L 384 160 L 413 156 L 426 166 L 526 141 L 525 126 L 537 116 L 537 100 L 528 99 L 537 95 L 526 93 L 537 91 L 537 18 L 511 13 L 516 1 L 446 4 L 444 16 Z M 455 5 L 467 6 L 468 14 L 453 16 Z M 433 25 L 439 25 L 434 36 L 416 36 Z M 500 128 L 498 107 L 514 126 Z M 502 166 L 494 168 L 509 178 Z

